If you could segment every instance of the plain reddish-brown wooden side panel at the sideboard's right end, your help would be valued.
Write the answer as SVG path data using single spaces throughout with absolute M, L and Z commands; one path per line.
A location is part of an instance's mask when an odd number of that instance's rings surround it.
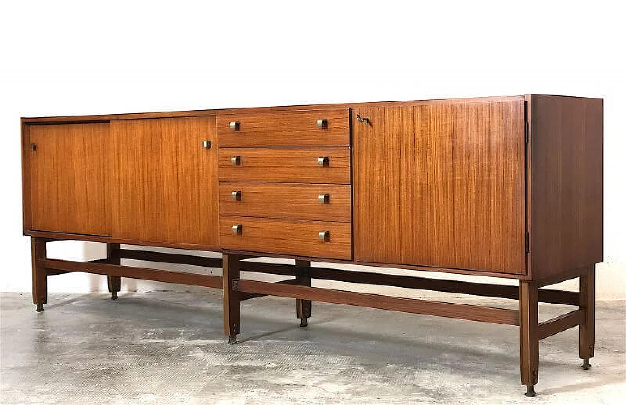
M 530 95 L 531 274 L 602 261 L 602 99 Z

